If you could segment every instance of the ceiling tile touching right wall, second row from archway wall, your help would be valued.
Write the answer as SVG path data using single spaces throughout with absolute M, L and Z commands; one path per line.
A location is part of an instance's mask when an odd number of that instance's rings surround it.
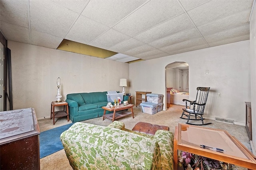
M 214 33 L 212 35 L 207 35 L 204 37 L 204 39 L 208 42 L 208 43 L 212 43 L 212 42 L 216 42 L 216 41 L 222 41 L 224 39 L 230 39 L 230 38 L 234 38 L 234 37 L 240 37 L 243 35 L 248 35 L 250 34 L 250 25 L 244 25 L 241 27 L 237 27 L 234 29 L 229 29 L 226 31 L 222 31 L 219 33 Z

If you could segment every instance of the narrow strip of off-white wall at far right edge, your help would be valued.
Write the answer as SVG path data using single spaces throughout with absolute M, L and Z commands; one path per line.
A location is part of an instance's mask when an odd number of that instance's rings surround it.
M 256 147 L 256 5 L 250 20 L 250 63 L 251 63 L 251 102 L 252 102 L 252 141 Z

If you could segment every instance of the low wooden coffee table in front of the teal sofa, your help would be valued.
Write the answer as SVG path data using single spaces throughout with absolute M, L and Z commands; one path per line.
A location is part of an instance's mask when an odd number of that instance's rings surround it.
M 132 118 L 134 118 L 133 108 L 132 108 L 133 106 L 134 106 L 133 104 L 128 104 L 125 106 L 124 104 L 121 104 L 120 106 L 115 106 L 114 108 L 104 106 L 102 107 L 102 109 L 104 109 L 103 120 L 107 118 L 112 120 L 113 122 L 115 119 L 128 116 L 130 114 L 132 114 Z M 126 109 L 131 109 L 131 111 L 125 111 Z M 106 115 L 106 110 L 114 111 L 114 112 Z

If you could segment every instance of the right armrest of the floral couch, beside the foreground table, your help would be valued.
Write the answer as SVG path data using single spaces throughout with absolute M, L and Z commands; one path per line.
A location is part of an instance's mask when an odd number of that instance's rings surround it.
M 158 143 L 161 154 L 162 169 L 173 170 L 173 134 L 170 131 L 158 130 L 154 140 Z

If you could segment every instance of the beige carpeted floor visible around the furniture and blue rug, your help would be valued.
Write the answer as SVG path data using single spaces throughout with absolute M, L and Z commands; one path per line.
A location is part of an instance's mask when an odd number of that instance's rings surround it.
M 178 125 L 178 123 L 186 123 L 185 119 L 180 119 L 180 115 L 182 113 L 182 108 L 184 106 L 180 105 L 171 105 L 170 108 L 168 108 L 167 111 L 160 111 L 154 115 L 149 115 L 146 113 L 142 113 L 140 111 L 140 107 L 134 107 L 134 119 L 132 119 L 132 116 L 122 117 L 120 119 L 117 119 L 118 121 L 122 121 L 125 124 L 125 127 L 127 129 L 132 129 L 136 123 L 139 121 L 144 121 L 152 124 L 158 124 L 158 125 L 165 125 L 170 127 L 170 131 L 174 133 L 175 126 Z M 102 117 L 98 117 L 95 119 L 89 119 L 86 121 L 82 121 L 84 123 L 92 123 L 95 125 L 102 125 L 107 126 L 112 121 L 105 119 L 102 121 Z M 198 123 L 198 121 L 194 121 Z M 250 140 L 248 138 L 246 129 L 244 126 L 240 125 L 231 125 L 227 123 L 217 122 L 209 119 L 205 119 L 204 123 L 212 122 L 210 125 L 205 125 L 203 127 L 210 127 L 210 128 L 216 128 L 216 129 L 223 129 L 228 131 L 232 136 L 236 137 L 242 144 L 244 144 L 249 150 L 251 150 L 250 147 Z M 68 123 L 72 123 L 71 121 L 67 121 L 66 117 L 59 118 L 55 125 L 53 125 L 52 120 L 50 119 L 41 119 L 38 120 L 40 131 L 46 131 L 48 129 L 52 129 L 54 127 L 62 126 Z M 193 123 L 193 121 L 192 121 Z M 69 165 L 68 159 L 66 157 L 65 151 L 60 150 L 58 152 L 55 152 L 54 154 L 51 154 L 49 156 L 46 156 L 42 159 L 40 159 L 40 166 L 41 170 L 72 170 L 71 166 Z

